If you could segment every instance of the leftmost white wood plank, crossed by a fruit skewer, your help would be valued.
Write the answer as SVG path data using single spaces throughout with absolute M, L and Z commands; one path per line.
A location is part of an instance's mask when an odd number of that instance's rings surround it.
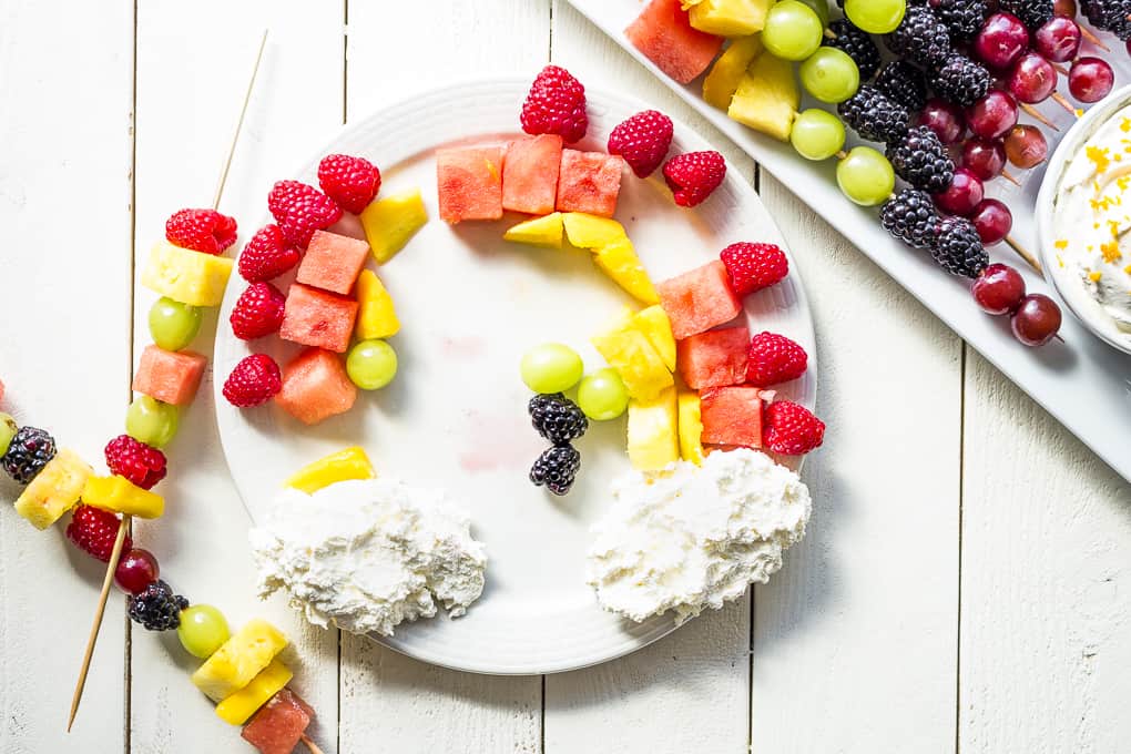
M 132 9 L 3 0 L 0 18 L 0 409 L 102 468 L 129 385 Z M 66 540 L 69 517 L 48 531 L 19 518 L 18 492 L 5 475 L 0 751 L 120 751 L 123 600 L 68 735 L 104 569 Z

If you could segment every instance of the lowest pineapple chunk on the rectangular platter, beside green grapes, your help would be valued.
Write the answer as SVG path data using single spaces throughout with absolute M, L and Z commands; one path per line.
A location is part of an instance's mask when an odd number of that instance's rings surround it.
M 758 55 L 742 77 L 726 114 L 756 131 L 788 141 L 800 106 L 793 64 L 774 55 Z

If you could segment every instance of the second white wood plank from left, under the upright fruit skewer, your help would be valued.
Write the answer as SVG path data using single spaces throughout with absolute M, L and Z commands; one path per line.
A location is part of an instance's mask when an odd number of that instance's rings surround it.
M 268 49 L 221 209 L 236 217 L 247 241 L 267 217 L 271 184 L 290 177 L 313 145 L 342 121 L 343 9 L 299 0 L 185 6 L 139 5 L 137 249 L 164 234 L 165 218 L 185 206 L 209 206 L 256 47 Z M 230 253 L 235 253 L 234 250 Z M 138 269 L 140 271 L 139 261 Z M 243 285 L 233 275 L 231 285 Z M 136 348 L 149 340 L 155 296 L 138 289 Z M 221 327 L 227 327 L 222 322 Z M 195 347 L 211 354 L 215 313 Z M 223 379 L 218 375 L 217 379 Z M 262 616 L 293 641 L 293 687 L 317 710 L 312 729 L 336 751 L 337 633 L 310 627 L 284 604 L 254 597 L 247 532 L 250 521 L 231 483 L 216 435 L 213 375 L 170 448 L 164 483 L 169 512 L 139 527 L 138 540 L 162 561 L 162 574 L 190 599 L 210 603 L 236 627 Z M 175 636 L 132 632 L 132 751 L 247 752 L 239 729 L 221 721 L 188 674 L 198 664 Z

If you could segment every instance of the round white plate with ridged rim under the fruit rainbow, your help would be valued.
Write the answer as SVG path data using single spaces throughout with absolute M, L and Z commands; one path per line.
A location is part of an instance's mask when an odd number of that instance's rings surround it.
M 671 615 L 633 624 L 605 613 L 585 583 L 589 525 L 608 505 L 612 479 L 630 469 L 624 419 L 594 423 L 579 441 L 582 469 L 571 494 L 555 499 L 527 480 L 544 450 L 526 414 L 529 392 L 520 355 L 545 341 L 577 348 L 588 369 L 603 365 L 589 337 L 625 303 L 587 251 L 535 249 L 502 240 L 521 219 L 464 223 L 438 218 L 432 153 L 452 142 L 506 139 L 519 132 L 529 81 L 460 85 L 415 97 L 346 128 L 294 175 L 317 185 L 326 154 L 368 157 L 381 167 L 382 193 L 418 187 L 432 219 L 379 275 L 391 292 L 402 331 L 394 383 L 359 396 L 346 415 L 307 427 L 282 409 L 239 410 L 221 395 L 224 376 L 249 353 L 280 364 L 297 350 L 276 337 L 245 344 L 227 317 L 243 289 L 233 280 L 216 339 L 216 406 L 232 476 L 252 519 L 270 517 L 279 483 L 300 466 L 348 444 L 363 445 L 380 474 L 439 486 L 470 509 L 485 543 L 487 586 L 467 615 L 404 624 L 378 641 L 428 662 L 491 674 L 541 674 L 603 662 L 671 632 Z M 588 92 L 589 137 L 604 149 L 610 130 L 647 105 Z M 672 154 L 709 149 L 682 123 Z M 265 197 L 266 200 L 266 197 Z M 745 180 L 733 171 L 705 203 L 676 207 L 663 176 L 625 171 L 618 219 L 651 277 L 662 280 L 718 258 L 735 241 L 784 246 L 782 234 Z M 265 217 L 264 222 L 269 222 Z M 285 291 L 288 280 L 277 283 Z M 812 407 L 817 395 L 813 323 L 794 270 L 746 300 L 752 331 L 774 330 L 810 354 L 806 374 L 779 393 Z

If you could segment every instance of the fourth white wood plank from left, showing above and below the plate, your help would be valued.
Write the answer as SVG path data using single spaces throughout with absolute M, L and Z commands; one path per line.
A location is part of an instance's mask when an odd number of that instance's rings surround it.
M 593 89 L 630 93 L 707 137 L 729 170 L 753 161 L 569 3 L 554 3 L 553 61 Z M 546 677 L 551 752 L 741 752 L 749 740 L 750 599 L 603 666 Z

